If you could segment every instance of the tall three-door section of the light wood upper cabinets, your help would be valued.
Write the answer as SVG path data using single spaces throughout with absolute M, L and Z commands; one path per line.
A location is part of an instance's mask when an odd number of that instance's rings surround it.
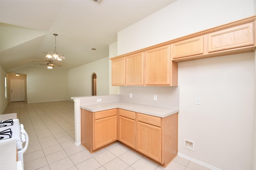
M 111 60 L 112 86 L 178 86 L 178 63 L 171 61 L 170 45 Z

